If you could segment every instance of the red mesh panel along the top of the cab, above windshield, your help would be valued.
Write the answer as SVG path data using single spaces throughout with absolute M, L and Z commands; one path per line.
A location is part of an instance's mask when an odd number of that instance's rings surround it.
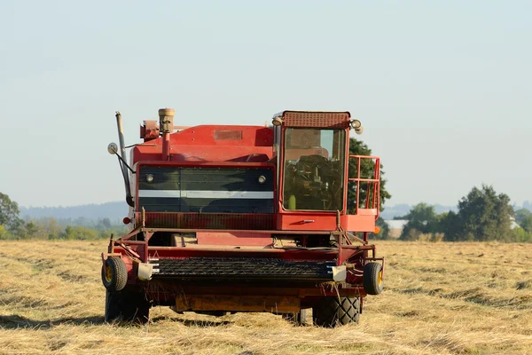
M 286 127 L 349 128 L 351 114 L 348 112 L 285 111 Z

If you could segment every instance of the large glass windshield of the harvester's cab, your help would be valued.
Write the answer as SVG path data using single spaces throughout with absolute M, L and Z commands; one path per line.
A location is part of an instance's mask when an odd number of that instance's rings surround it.
M 284 209 L 343 209 L 345 140 L 345 130 L 286 129 Z

